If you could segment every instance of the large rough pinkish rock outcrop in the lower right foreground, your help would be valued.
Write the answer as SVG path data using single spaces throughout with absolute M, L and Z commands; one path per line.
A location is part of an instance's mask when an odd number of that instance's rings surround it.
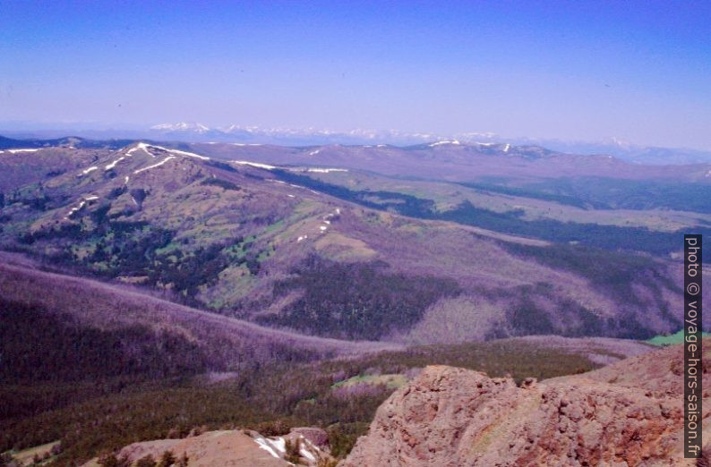
M 381 405 L 370 433 L 342 465 L 693 465 L 682 452 L 675 383 L 681 377 L 673 370 L 680 351 L 521 386 L 467 369 L 427 367 Z M 648 387 L 647 371 L 663 390 Z M 711 385 L 706 372 L 704 379 Z

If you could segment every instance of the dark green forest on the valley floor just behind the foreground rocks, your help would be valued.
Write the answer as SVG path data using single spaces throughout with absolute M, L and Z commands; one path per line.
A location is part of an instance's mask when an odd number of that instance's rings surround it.
M 0 418 L 0 451 L 61 440 L 61 453 L 52 465 L 69 466 L 134 441 L 184 437 L 195 428 L 248 428 L 273 435 L 288 427 L 317 426 L 327 429 L 333 454 L 343 457 L 394 389 L 358 384 L 335 390 L 334 384 L 359 375 L 414 375 L 430 364 L 477 369 L 492 377 L 511 375 L 517 381 L 595 368 L 580 355 L 503 340 L 417 346 L 313 363 L 275 362 L 211 384 L 207 376 L 194 375 L 133 381 L 54 408 L 48 402 L 45 410 L 28 408 L 24 417 L 15 413 Z M 51 386 L 37 381 L 22 388 L 41 403 L 52 395 Z M 0 385 L 0 398 L 15 395 L 13 387 Z

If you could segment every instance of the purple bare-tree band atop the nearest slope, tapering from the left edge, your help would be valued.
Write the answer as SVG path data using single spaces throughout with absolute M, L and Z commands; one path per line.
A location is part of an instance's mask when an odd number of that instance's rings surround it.
M 105 332 L 141 327 L 170 333 L 194 345 L 206 369 L 236 370 L 269 361 L 304 361 L 324 356 L 395 348 L 389 344 L 343 342 L 260 327 L 235 318 L 194 310 L 121 286 L 0 264 L 4 301 L 73 318 L 81 327 Z M 201 368 L 203 369 L 203 368 Z

